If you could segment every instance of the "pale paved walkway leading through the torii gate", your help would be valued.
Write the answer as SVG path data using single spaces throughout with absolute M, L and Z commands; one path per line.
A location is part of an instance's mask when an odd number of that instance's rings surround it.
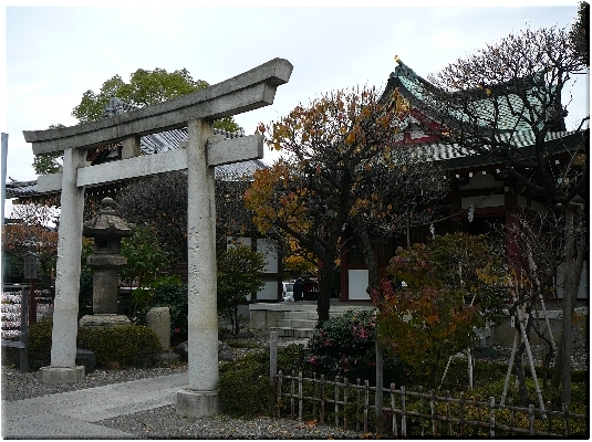
M 13 402 L 2 401 L 3 439 L 137 439 L 93 422 L 176 402 L 188 373 L 113 383 Z

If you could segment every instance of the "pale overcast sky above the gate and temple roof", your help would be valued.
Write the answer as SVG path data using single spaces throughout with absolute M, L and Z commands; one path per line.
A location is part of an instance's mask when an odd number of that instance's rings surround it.
M 31 145 L 22 130 L 74 125 L 71 112 L 82 94 L 98 92 L 115 74 L 128 81 L 141 67 L 185 67 L 194 80 L 215 84 L 271 59 L 287 59 L 294 69 L 290 82 L 278 87 L 274 104 L 235 117 L 252 134 L 259 122 L 278 119 L 320 94 L 365 84 L 384 87 L 395 70 L 395 55 L 427 77 L 527 25 L 571 25 L 578 11 L 577 1 L 561 0 L 503 8 L 144 6 L 148 3 L 6 8 L 7 90 L 0 96 L 10 177 L 35 179 Z M 588 77 L 579 82 L 568 129 L 589 114 Z M 267 148 L 266 159 L 272 159 Z

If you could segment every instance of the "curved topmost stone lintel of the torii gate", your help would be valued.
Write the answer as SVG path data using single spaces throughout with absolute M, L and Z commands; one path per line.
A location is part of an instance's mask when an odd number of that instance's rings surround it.
M 60 154 L 67 148 L 90 149 L 184 127 L 190 119 L 224 118 L 273 103 L 276 90 L 288 83 L 292 64 L 273 59 L 205 90 L 97 122 L 49 130 L 23 130 L 34 155 Z

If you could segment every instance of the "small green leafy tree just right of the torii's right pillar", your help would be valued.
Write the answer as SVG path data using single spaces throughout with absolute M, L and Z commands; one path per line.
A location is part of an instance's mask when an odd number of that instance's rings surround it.
M 218 313 L 230 319 L 232 333 L 239 333 L 238 305 L 263 288 L 263 254 L 248 245 L 236 245 L 218 257 Z

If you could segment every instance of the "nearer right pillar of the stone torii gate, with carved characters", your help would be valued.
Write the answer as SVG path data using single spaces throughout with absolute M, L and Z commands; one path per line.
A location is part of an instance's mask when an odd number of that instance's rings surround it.
M 211 123 L 187 125 L 187 266 L 189 387 L 177 392 L 177 414 L 211 415 L 218 412 L 218 312 L 216 296 L 216 208 L 214 168 L 206 162 Z M 216 370 L 212 370 L 212 365 Z

